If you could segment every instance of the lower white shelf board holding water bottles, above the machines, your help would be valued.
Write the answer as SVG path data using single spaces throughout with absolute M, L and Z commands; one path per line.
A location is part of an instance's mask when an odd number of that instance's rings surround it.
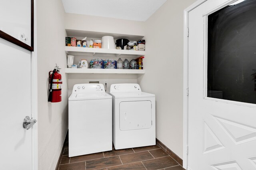
M 145 70 L 140 70 L 140 69 L 72 69 L 72 68 L 66 68 L 65 73 L 144 74 Z

